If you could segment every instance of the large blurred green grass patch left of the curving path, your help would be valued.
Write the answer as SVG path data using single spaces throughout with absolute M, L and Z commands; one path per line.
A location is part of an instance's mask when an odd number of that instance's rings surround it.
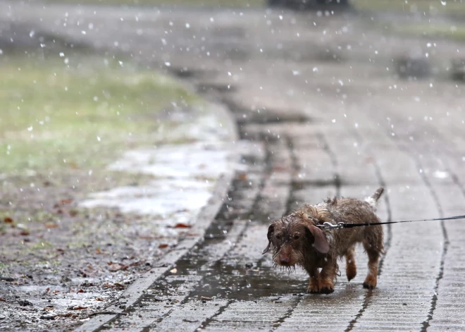
M 198 102 L 173 80 L 113 59 L 0 59 L 1 173 L 103 166 L 149 142 L 171 103 Z

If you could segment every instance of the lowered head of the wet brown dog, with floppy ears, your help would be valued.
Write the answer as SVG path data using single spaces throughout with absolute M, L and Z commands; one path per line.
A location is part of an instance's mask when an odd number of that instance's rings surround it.
M 303 215 L 290 214 L 275 221 L 268 228 L 268 246 L 273 262 L 279 266 L 292 267 L 304 265 L 304 254 L 307 252 L 329 252 L 328 239 L 323 230 Z

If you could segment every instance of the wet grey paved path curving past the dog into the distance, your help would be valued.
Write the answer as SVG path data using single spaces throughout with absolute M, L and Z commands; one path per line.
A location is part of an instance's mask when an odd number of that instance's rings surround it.
M 383 220 L 464 214 L 464 87 L 447 78 L 463 45 L 325 13 L 13 7 L 18 21 L 178 75 L 227 105 L 249 142 L 205 240 L 122 315 L 81 331 L 464 331 L 463 221 L 385 228 L 372 292 L 360 249 L 358 276 L 342 271 L 331 295 L 306 294 L 305 273 L 261 255 L 270 221 L 328 195 L 383 185 Z M 433 76 L 393 75 L 397 57 L 426 53 Z

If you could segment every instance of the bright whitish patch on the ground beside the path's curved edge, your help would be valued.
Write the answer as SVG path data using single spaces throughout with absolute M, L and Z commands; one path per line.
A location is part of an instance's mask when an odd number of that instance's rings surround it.
M 109 170 L 144 173 L 157 179 L 141 187 L 94 193 L 81 205 L 116 207 L 125 213 L 169 219 L 170 224 L 190 224 L 209 202 L 216 181 L 233 167 L 231 151 L 225 143 L 193 143 L 126 152 L 109 165 Z

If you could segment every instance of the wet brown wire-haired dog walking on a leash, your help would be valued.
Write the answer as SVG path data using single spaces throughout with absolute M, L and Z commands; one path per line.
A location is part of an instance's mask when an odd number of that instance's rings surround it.
M 380 222 L 376 216 L 376 203 L 383 191 L 379 188 L 364 201 L 334 198 L 318 205 L 304 205 L 270 225 L 268 246 L 263 254 L 271 249 L 275 266 L 290 270 L 295 266 L 302 267 L 310 276 L 309 292 L 329 294 L 334 291 L 338 258 L 346 258 L 347 279 L 350 281 L 356 276 L 354 248 L 356 243 L 361 243 L 368 254 L 364 288 L 375 288 L 378 262 L 383 253 L 382 226 L 323 230 L 317 225 L 326 221 L 333 224 Z

